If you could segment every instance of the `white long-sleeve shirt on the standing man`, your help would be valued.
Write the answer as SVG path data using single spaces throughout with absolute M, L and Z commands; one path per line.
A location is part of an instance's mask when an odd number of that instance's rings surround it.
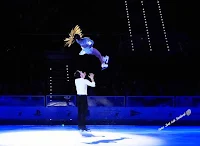
M 90 82 L 87 79 L 78 78 L 75 79 L 75 86 L 77 95 L 87 95 L 87 86 L 95 87 L 95 82 Z

